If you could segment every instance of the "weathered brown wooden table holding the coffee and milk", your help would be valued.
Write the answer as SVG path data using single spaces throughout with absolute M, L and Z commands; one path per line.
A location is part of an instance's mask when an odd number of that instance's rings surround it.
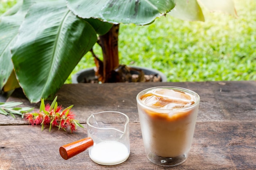
M 162 167 L 146 158 L 137 113 L 136 95 L 152 86 L 180 86 L 200 97 L 198 119 L 189 158 L 180 166 Z M 115 110 L 130 117 L 130 157 L 115 166 L 90 160 L 88 151 L 65 161 L 59 147 L 87 137 L 87 128 L 73 134 L 63 130 L 28 125 L 20 117 L 0 115 L 0 170 L 255 170 L 256 169 L 256 82 L 166 82 L 117 84 L 65 84 L 58 104 L 72 108 L 85 125 L 91 113 Z M 34 106 L 20 90 L 7 101 Z M 86 126 L 85 126 L 86 127 Z

